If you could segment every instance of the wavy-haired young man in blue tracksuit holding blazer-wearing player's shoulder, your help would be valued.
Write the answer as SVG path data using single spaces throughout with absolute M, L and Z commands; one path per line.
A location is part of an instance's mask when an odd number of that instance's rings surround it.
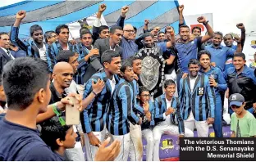
M 208 75 L 209 83 L 215 90 L 215 118 L 213 123 L 213 129 L 215 137 L 223 137 L 222 134 L 222 97 L 220 92 L 226 91 L 226 81 L 223 77 L 222 70 L 218 67 L 211 66 L 211 54 L 210 52 L 203 50 L 199 52 L 200 73 Z

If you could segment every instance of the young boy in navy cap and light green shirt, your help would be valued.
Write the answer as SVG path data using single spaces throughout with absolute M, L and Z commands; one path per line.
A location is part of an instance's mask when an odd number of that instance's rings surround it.
M 229 105 L 235 112 L 231 115 L 231 137 L 256 137 L 256 119 L 245 110 L 245 98 L 239 93 L 232 94 Z

